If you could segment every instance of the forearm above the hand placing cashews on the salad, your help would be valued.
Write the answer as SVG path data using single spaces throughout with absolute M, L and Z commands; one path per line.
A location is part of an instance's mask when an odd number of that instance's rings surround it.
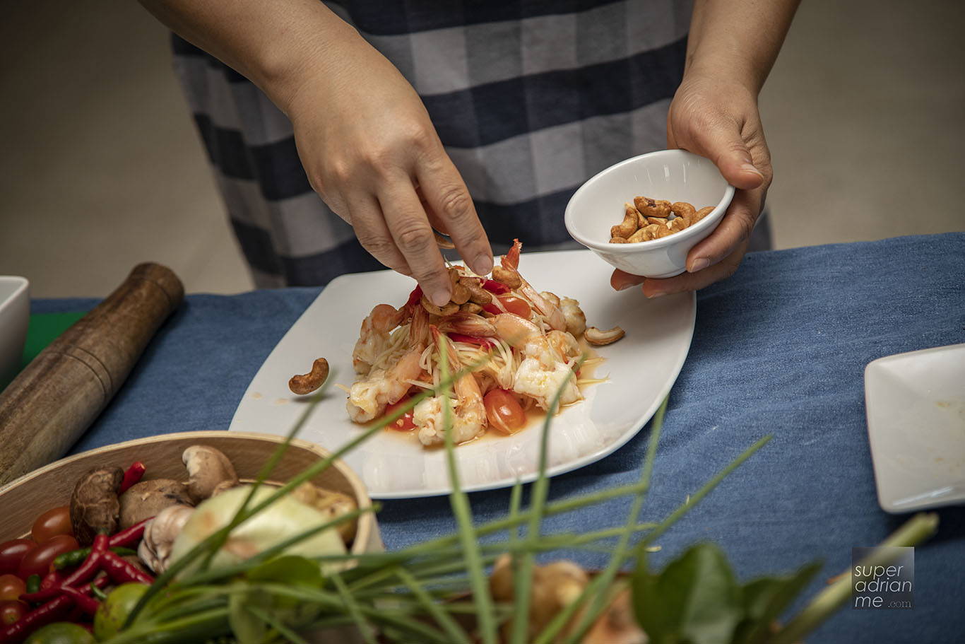
M 158 20 L 258 85 L 283 111 L 317 74 L 362 41 L 317 0 L 140 0 Z

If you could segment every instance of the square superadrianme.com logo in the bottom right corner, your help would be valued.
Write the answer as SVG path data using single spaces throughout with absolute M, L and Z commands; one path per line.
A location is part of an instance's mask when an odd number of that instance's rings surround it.
M 914 608 L 915 548 L 882 547 L 891 554 L 887 565 L 866 563 L 877 548 L 851 548 L 851 607 Z

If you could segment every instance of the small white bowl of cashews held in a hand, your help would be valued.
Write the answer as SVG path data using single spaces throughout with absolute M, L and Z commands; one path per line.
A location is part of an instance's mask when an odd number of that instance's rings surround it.
M 714 206 L 692 226 L 637 243 L 610 243 L 610 228 L 623 220 L 623 204 L 645 196 Z M 634 275 L 673 277 L 686 269 L 687 253 L 717 228 L 731 205 L 733 186 L 703 156 L 683 150 L 641 154 L 597 174 L 566 204 L 566 230 L 607 263 Z

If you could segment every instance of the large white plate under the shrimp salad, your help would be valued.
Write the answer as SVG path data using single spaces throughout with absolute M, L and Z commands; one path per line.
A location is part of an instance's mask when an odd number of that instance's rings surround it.
M 575 297 L 590 325 L 619 324 L 626 336 L 599 355 L 597 377 L 586 400 L 553 419 L 548 471 L 560 474 L 602 459 L 637 434 L 674 384 L 690 349 L 697 312 L 694 294 L 648 300 L 637 290 L 610 288 L 612 267 L 585 250 L 523 253 L 520 272 L 538 290 Z M 352 350 L 372 306 L 400 306 L 415 282 L 392 271 L 343 275 L 318 295 L 272 350 L 234 412 L 229 429 L 286 434 L 304 409 L 290 393 L 294 374 L 309 371 L 317 357 L 328 360 L 334 382 L 354 378 Z M 538 472 L 541 422 L 511 436 L 489 433 L 456 448 L 464 490 L 490 490 L 531 481 Z M 329 387 L 299 437 L 336 450 L 361 433 L 345 412 L 345 394 Z M 451 490 L 445 452 L 423 448 L 413 434 L 376 434 L 345 456 L 372 498 L 411 498 Z

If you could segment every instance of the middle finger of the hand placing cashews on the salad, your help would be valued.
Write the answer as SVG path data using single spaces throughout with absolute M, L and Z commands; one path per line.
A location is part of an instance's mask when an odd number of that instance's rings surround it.
M 385 224 L 411 275 L 429 300 L 443 306 L 452 297 L 452 282 L 415 188 L 408 177 L 389 182 L 379 195 Z

